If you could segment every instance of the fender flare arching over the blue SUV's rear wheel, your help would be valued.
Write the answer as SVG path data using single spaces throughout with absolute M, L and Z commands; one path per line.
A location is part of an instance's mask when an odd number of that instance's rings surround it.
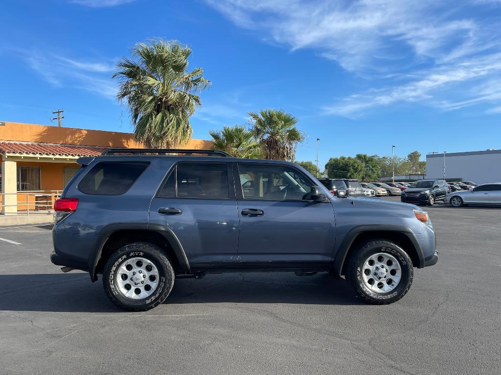
M 101 254 L 106 241 L 113 233 L 121 230 L 146 230 L 160 234 L 172 247 L 179 264 L 178 270 L 181 272 L 190 272 L 190 265 L 186 252 L 184 251 L 181 242 L 179 242 L 179 239 L 170 228 L 160 224 L 148 224 L 146 222 L 114 223 L 106 225 L 101 229 L 99 235 L 96 236 L 99 239 L 97 240 L 96 246 L 94 246 L 95 252 L 89 257 L 88 263 L 89 274 L 93 282 L 97 281 L 96 267 L 101 259 Z

